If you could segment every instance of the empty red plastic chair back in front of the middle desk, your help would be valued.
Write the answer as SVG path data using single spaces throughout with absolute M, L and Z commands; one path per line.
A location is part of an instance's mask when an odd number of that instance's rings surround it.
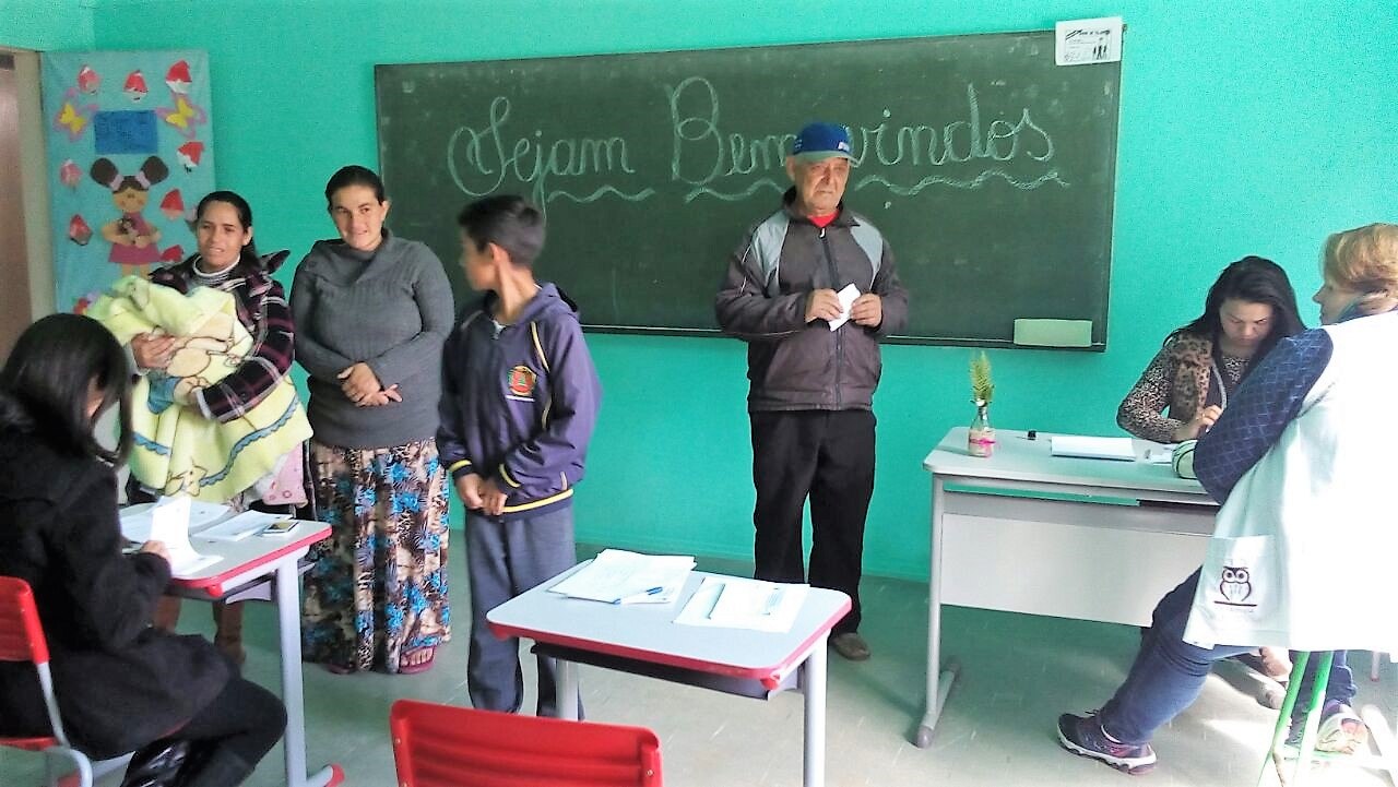
M 398 787 L 660 787 L 650 730 L 400 699 Z

